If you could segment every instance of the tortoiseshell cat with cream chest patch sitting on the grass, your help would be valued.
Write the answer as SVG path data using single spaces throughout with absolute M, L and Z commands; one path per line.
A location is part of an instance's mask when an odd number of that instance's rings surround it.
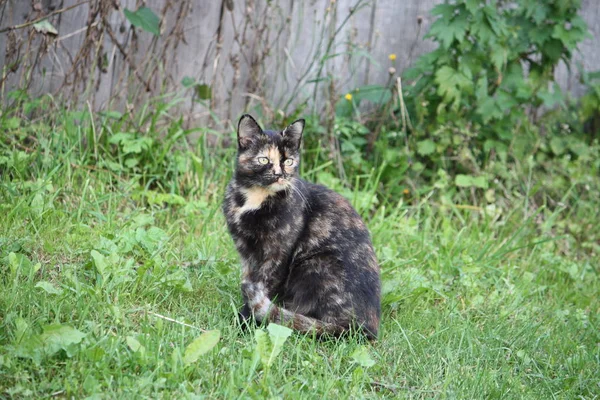
M 304 120 L 263 131 L 238 124 L 223 211 L 242 261 L 241 316 L 301 332 L 377 337 L 379 265 L 369 231 L 341 195 L 298 177 Z

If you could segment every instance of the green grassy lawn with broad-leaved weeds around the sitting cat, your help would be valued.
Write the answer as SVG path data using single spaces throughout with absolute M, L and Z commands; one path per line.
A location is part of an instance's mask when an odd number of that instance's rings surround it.
M 21 122 L 37 140 L 2 147 L 0 397 L 600 397 L 597 253 L 552 222 L 597 221 L 597 199 L 532 214 L 524 196 L 499 218 L 427 197 L 359 207 L 382 266 L 379 341 L 293 334 L 269 366 L 236 322 L 232 152 L 190 146 L 176 170 L 178 155 L 111 158 L 100 126 Z M 133 156 L 148 168 L 119 170 Z M 357 205 L 372 179 L 348 190 Z M 186 362 L 203 330 L 220 340 Z

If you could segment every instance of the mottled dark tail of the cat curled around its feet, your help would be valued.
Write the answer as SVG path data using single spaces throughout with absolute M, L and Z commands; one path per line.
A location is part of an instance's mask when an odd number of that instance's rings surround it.
M 246 297 L 250 311 L 252 311 L 258 322 L 275 322 L 298 332 L 315 333 L 317 336 L 338 337 L 349 331 L 349 326 L 321 321 L 278 306 L 267 297 L 260 283 L 244 282 L 242 292 Z M 367 337 L 371 339 L 371 335 L 368 332 L 366 333 Z

